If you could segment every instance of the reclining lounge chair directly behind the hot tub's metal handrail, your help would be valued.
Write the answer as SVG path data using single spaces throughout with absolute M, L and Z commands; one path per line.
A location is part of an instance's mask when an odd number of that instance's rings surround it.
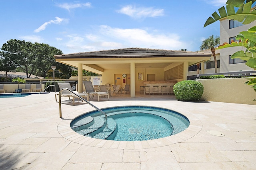
M 73 90 L 72 90 L 72 87 L 71 87 L 71 85 L 70 85 L 70 83 L 66 83 L 66 82 L 65 82 L 65 83 L 58 83 L 58 86 L 59 86 L 60 90 L 62 90 L 62 89 L 64 89 L 64 88 L 68 88 L 69 90 L 73 91 Z M 55 94 L 55 100 L 56 100 L 56 102 L 58 102 L 58 101 L 57 101 L 57 96 L 58 96 L 58 95 L 59 95 L 59 94 Z M 88 96 L 88 94 L 78 93 L 77 95 L 80 96 L 80 97 L 82 97 L 82 98 L 86 98 L 87 101 L 89 101 L 89 96 Z M 61 97 L 68 97 L 69 100 L 70 100 L 70 98 L 72 98 L 73 106 L 75 106 L 75 98 L 78 98 L 76 95 L 70 93 L 68 90 L 63 90 L 63 91 L 61 92 Z

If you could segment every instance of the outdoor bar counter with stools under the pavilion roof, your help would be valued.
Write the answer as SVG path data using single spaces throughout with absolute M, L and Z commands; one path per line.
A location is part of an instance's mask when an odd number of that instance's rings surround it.
M 170 92 L 173 92 L 173 86 L 177 82 L 178 82 L 177 80 L 166 80 L 166 81 L 144 81 L 142 83 L 145 86 L 145 91 L 144 91 L 145 94 L 168 94 Z M 156 88 L 157 86 L 158 88 Z M 162 86 L 167 86 L 167 87 L 162 88 Z

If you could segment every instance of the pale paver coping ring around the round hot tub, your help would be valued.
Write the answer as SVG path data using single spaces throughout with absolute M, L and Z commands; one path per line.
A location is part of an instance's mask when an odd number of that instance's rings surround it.
M 122 104 L 120 106 L 131 106 L 131 105 Z M 120 106 L 115 106 L 115 107 L 120 107 Z M 132 106 L 136 106 L 136 105 L 132 105 Z M 138 105 L 138 106 L 142 106 L 142 105 Z M 159 107 L 159 106 L 149 106 L 149 107 Z M 100 109 L 103 109 L 103 108 L 107 108 L 107 107 L 102 107 Z M 160 108 L 165 108 L 165 107 L 160 107 Z M 172 108 L 166 107 L 166 109 L 170 109 L 180 113 L 179 111 L 176 111 Z M 90 112 L 94 110 L 95 110 L 94 108 L 90 108 L 86 112 Z M 108 149 L 128 149 L 128 150 L 150 149 L 150 148 L 156 148 L 156 147 L 164 147 L 164 146 L 172 145 L 175 143 L 180 143 L 182 141 L 186 141 L 194 137 L 196 134 L 198 134 L 201 131 L 202 123 L 197 117 L 195 117 L 189 112 L 180 113 L 180 114 L 186 116 L 190 121 L 190 125 L 188 126 L 187 129 L 172 136 L 163 137 L 159 139 L 152 139 L 147 141 L 112 141 L 112 140 L 105 140 L 105 139 L 95 139 L 91 137 L 86 137 L 84 135 L 80 135 L 76 133 L 74 130 L 72 130 L 72 128 L 70 127 L 70 123 L 72 122 L 73 119 L 82 115 L 81 113 L 71 113 L 70 115 L 68 115 L 68 117 L 66 117 L 66 119 L 62 119 L 62 121 L 57 126 L 57 130 L 58 130 L 58 133 L 65 139 L 72 141 L 74 143 L 78 143 L 80 145 L 99 147 L 99 148 L 108 148 Z

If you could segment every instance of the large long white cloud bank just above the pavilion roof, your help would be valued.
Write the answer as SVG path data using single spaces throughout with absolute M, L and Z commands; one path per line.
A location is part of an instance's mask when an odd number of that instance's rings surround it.
M 67 35 L 65 47 L 68 53 L 98 51 L 128 47 L 178 50 L 189 48 L 190 42 L 182 42 L 180 36 L 172 33 L 160 33 L 157 30 L 122 29 L 101 25 L 85 35 Z M 64 42 L 64 41 L 62 41 Z M 64 52 L 65 53 L 65 52 Z

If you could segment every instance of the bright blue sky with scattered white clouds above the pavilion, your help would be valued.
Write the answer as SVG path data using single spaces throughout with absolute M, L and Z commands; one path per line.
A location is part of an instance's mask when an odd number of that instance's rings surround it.
M 227 0 L 1 0 L 0 46 L 46 43 L 64 54 L 122 48 L 200 50 L 220 22 L 204 27 Z

